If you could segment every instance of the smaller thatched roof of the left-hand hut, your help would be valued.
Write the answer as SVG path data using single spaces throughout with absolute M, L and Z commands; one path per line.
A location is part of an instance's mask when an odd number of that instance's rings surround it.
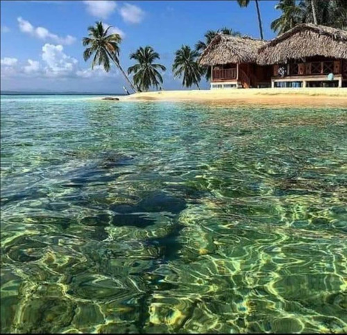
M 247 63 L 257 60 L 257 49 L 266 42 L 251 37 L 218 34 L 199 59 L 200 65 Z

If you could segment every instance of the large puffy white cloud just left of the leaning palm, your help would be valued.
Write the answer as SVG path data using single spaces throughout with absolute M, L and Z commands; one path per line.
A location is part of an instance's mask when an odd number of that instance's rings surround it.
M 78 61 L 66 55 L 60 44 L 44 44 L 42 60 L 46 63 L 44 72 L 49 77 L 71 76 L 77 69 Z

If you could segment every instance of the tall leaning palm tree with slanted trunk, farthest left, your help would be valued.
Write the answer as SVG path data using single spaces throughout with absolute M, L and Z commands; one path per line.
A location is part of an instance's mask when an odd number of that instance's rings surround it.
M 136 92 L 133 83 L 130 82 L 119 63 L 119 43 L 121 42 L 121 36 L 119 34 L 108 35 L 110 28 L 111 26 L 105 29 L 101 21 L 96 22 L 95 26 L 88 27 L 89 37 L 83 37 L 83 46 L 88 46 L 83 52 L 83 58 L 87 61 L 94 55 L 92 69 L 94 69 L 96 64 L 103 65 L 103 69 L 106 72 L 110 71 L 110 61 L 114 62 L 128 81 L 130 87 Z

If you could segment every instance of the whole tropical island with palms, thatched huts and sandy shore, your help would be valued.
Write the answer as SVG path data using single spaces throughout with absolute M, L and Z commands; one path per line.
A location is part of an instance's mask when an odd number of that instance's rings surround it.
M 239 6 L 251 1 L 238 0 Z M 346 2 L 325 1 L 317 8 L 316 1 L 279 1 L 276 8 L 282 15 L 271 28 L 279 33 L 273 40 L 264 40 L 259 3 L 255 1 L 260 39 L 242 35 L 230 28 L 205 33 L 205 41 L 192 48 L 183 45 L 174 58 L 172 71 L 190 91 L 165 91 L 159 53 L 151 46 L 140 46 L 130 59 L 135 65 L 124 71 L 119 62 L 118 34 L 108 34 L 102 22 L 88 28 L 89 37 L 83 56 L 93 55 L 92 69 L 102 65 L 110 71 L 113 63 L 133 93 L 131 96 L 104 100 L 256 100 L 274 103 L 295 100 L 305 103 L 305 96 L 314 96 L 316 103 L 330 97 L 332 103 L 347 103 L 347 32 Z M 132 80 L 129 76 L 132 75 Z M 210 90 L 201 91 L 199 83 L 205 77 Z M 271 87 L 271 89 L 269 89 Z M 242 90 L 239 92 L 237 89 Z M 293 90 L 292 88 L 298 88 Z M 329 88 L 329 89 L 327 89 Z M 334 89 L 335 88 L 335 89 Z M 127 94 L 128 89 L 124 87 Z M 152 92 L 157 89 L 157 92 Z M 276 98 L 273 98 L 276 96 Z

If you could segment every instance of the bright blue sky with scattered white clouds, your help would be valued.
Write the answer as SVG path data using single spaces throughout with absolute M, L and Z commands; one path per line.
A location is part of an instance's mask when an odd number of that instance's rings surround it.
M 251 1 L 252 2 L 252 1 Z M 260 1 L 266 40 L 278 1 Z M 174 52 L 203 40 L 206 31 L 227 26 L 259 37 L 255 3 L 236 1 L 1 1 L 1 90 L 123 92 L 124 78 L 112 69 L 91 71 L 83 60 L 87 26 L 102 20 L 121 33 L 121 65 L 133 65 L 129 54 L 151 45 L 167 67 L 164 89 L 181 89 L 173 78 Z M 202 83 L 203 88 L 208 83 Z

